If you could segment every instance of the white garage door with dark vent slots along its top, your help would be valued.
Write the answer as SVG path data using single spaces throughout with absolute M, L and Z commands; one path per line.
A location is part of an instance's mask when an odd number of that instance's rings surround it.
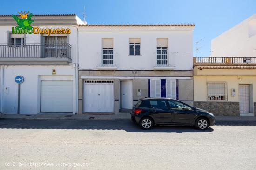
M 85 80 L 84 112 L 114 112 L 113 80 Z

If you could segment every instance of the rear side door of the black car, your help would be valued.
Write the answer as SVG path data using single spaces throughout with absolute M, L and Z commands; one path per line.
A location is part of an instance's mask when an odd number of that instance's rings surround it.
M 167 100 L 154 99 L 150 100 L 150 113 L 155 119 L 155 123 L 158 124 L 169 124 L 172 121 L 172 114 L 168 106 Z

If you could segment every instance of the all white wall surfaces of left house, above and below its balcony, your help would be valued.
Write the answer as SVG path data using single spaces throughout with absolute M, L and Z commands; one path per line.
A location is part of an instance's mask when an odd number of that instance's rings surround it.
M 15 25 L 13 25 L 15 26 Z M 35 26 L 35 25 L 34 25 Z M 21 85 L 20 114 L 40 113 L 40 80 L 73 81 L 73 114 L 77 112 L 77 71 L 74 69 L 77 63 L 77 26 L 38 26 L 39 28 L 70 28 L 69 44 L 71 48 L 72 62 L 67 66 L 3 66 L 1 65 L 1 111 L 3 113 L 17 113 L 18 85 L 14 77 L 22 75 L 25 81 Z M 0 26 L 0 44 L 7 44 L 7 31 L 12 26 Z M 40 34 L 26 34 L 26 43 L 41 43 Z M 56 75 L 52 75 L 52 69 L 56 69 Z M 47 77 L 46 77 L 47 76 Z M 9 87 L 9 94 L 5 94 L 4 88 Z

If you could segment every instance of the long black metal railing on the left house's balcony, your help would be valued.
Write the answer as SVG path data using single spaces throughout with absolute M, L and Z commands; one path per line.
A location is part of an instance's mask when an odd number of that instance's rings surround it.
M 71 45 L 0 44 L 0 58 L 71 58 Z

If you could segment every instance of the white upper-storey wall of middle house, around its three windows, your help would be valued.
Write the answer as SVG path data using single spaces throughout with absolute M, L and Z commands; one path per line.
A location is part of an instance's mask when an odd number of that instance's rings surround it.
M 102 38 L 113 38 L 119 70 L 153 70 L 157 38 L 168 38 L 170 64 L 175 70 L 193 68 L 193 26 L 78 27 L 79 69 L 94 69 L 101 60 Z M 141 38 L 141 56 L 129 56 L 129 38 Z M 115 63 L 115 61 L 114 61 Z

